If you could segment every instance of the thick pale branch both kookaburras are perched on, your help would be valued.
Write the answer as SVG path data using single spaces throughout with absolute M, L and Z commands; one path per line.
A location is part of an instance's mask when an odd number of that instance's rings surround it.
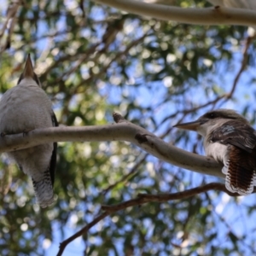
M 166 143 L 153 133 L 125 120 L 119 113 L 113 113 L 117 124 L 82 127 L 53 127 L 36 129 L 26 134 L 0 137 L 0 153 L 31 148 L 51 142 L 104 142 L 126 141 L 137 145 L 149 154 L 174 166 L 217 177 L 224 177 L 221 166 L 212 158 L 189 153 Z

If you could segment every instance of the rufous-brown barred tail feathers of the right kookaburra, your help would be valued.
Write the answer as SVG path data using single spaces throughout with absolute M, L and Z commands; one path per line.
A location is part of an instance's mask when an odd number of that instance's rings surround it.
M 225 186 L 230 192 L 239 195 L 253 192 L 256 183 L 256 159 L 253 155 L 236 146 L 229 146 L 229 158 L 222 172 L 226 175 Z

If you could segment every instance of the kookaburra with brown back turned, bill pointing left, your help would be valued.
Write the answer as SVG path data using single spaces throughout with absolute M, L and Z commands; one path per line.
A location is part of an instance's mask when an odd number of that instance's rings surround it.
M 205 113 L 194 122 L 174 127 L 197 131 L 204 137 L 207 156 L 223 163 L 225 186 L 247 195 L 256 185 L 256 131 L 247 119 L 230 109 Z

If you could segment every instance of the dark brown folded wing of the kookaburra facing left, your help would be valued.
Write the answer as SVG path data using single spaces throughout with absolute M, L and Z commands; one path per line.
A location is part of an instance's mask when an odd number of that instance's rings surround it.
M 212 143 L 230 144 L 252 153 L 256 146 L 256 132 L 250 125 L 230 120 L 212 131 L 209 137 Z

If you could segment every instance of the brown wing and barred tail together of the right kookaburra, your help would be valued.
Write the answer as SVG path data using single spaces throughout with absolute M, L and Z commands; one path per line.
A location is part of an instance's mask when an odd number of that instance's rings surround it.
M 211 140 L 228 146 L 229 158 L 223 168 L 226 188 L 240 195 L 252 193 L 256 180 L 256 135 L 253 127 L 230 120 L 212 132 Z

